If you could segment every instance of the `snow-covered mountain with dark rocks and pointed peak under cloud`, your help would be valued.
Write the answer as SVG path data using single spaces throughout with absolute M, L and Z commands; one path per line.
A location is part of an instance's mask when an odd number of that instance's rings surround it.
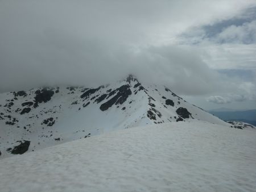
M 0 157 L 102 132 L 198 119 L 230 126 L 166 86 L 123 81 L 94 88 L 41 87 L 0 94 Z

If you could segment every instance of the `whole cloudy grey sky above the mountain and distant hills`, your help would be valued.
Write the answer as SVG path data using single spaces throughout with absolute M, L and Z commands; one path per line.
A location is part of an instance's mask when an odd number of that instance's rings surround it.
M 256 108 L 256 1 L 0 1 L 0 92 L 133 73 L 206 108 Z

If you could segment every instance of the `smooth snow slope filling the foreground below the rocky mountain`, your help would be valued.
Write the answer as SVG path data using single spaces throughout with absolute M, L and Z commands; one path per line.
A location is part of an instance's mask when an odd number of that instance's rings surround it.
M 255 191 L 256 131 L 163 123 L 0 161 L 1 191 Z

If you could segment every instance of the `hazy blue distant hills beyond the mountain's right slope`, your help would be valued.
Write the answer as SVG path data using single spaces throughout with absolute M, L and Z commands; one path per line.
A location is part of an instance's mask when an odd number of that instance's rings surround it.
M 240 122 L 250 123 L 256 126 L 256 110 L 244 110 L 244 111 L 211 110 L 209 112 L 223 120 L 240 121 Z

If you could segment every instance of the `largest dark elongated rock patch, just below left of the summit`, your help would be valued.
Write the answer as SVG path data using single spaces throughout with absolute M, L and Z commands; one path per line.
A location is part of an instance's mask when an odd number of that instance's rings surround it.
M 117 94 L 115 94 L 113 98 L 109 99 L 109 101 L 103 103 L 100 106 L 101 111 L 108 110 L 108 108 L 112 107 L 114 104 L 122 105 L 129 97 L 129 95 L 131 95 L 130 85 L 122 85 L 121 87 L 116 89 L 115 92 L 117 92 Z

